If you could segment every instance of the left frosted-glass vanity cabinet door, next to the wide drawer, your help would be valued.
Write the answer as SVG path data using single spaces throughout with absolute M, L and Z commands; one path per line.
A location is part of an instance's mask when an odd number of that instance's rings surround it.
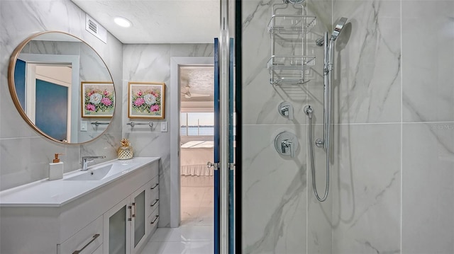
M 130 254 L 132 206 L 128 197 L 104 214 L 104 254 Z

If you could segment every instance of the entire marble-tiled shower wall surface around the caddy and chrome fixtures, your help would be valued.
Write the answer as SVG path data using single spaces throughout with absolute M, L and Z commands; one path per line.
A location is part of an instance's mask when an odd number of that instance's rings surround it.
M 272 192 L 267 189 L 277 171 L 286 179 L 293 173 L 289 168 L 298 165 L 277 158 L 272 142 L 263 139 L 287 127 L 301 134 L 301 144 L 306 142 L 301 131 L 307 129 L 305 104 L 316 112 L 319 137 L 323 88 L 320 71 L 314 71 L 315 86 L 267 83 L 270 38 L 265 25 L 275 3 L 243 2 L 245 253 L 304 253 L 292 252 L 289 231 L 301 235 L 298 247 L 305 246 L 306 253 L 453 253 L 453 1 L 309 1 L 309 10 L 321 21 L 316 35 L 331 31 L 340 17 L 348 23 L 335 46 L 330 196 L 323 204 L 316 202 L 311 171 L 304 164 L 306 204 L 298 209 L 279 203 L 292 184 L 283 180 Z M 251 99 L 253 94 L 260 97 Z M 293 122 L 275 112 L 282 100 L 299 105 Z M 300 152 L 308 151 L 304 145 Z M 319 150 L 316 164 L 324 166 Z M 316 176 L 322 192 L 323 170 Z M 265 198 L 270 210 L 258 211 Z M 282 209 L 305 213 L 306 229 L 283 224 Z M 279 241 L 287 240 L 288 248 L 279 249 Z

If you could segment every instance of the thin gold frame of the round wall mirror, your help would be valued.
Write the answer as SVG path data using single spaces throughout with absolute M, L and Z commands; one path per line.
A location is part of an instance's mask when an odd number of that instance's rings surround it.
M 79 42 L 82 42 L 84 43 L 84 45 L 87 45 L 89 47 L 89 49 L 91 49 L 94 54 L 96 54 L 99 59 L 101 59 L 101 62 L 104 64 L 104 67 L 106 67 L 106 70 L 107 72 L 109 73 L 109 76 L 111 78 L 111 81 L 112 81 L 112 84 L 114 85 L 114 79 L 112 79 L 112 74 L 111 74 L 111 71 L 109 70 L 109 68 L 107 67 L 107 64 L 106 62 L 104 62 L 104 59 L 102 59 L 102 57 L 98 54 L 98 52 L 96 52 L 96 50 L 94 50 L 94 48 L 92 46 L 90 46 L 87 42 L 85 42 L 84 40 L 80 39 L 79 37 L 76 37 L 74 35 L 71 35 L 70 33 L 65 33 L 65 32 L 60 32 L 60 31 L 44 31 L 44 32 L 40 32 L 40 33 L 35 33 L 29 37 L 26 38 L 26 40 L 23 40 L 23 42 L 21 42 L 17 47 L 16 49 L 13 51 L 13 54 L 11 54 L 11 58 L 9 59 L 9 67 L 8 67 L 8 86 L 9 86 L 9 93 L 11 95 L 11 98 L 13 99 L 13 103 L 14 105 L 16 106 L 16 109 L 18 110 L 19 114 L 21 115 L 21 117 L 23 118 L 23 120 L 25 120 L 28 125 L 30 125 L 30 127 L 32 127 L 36 132 L 38 132 L 39 134 L 43 135 L 44 137 L 54 141 L 54 142 L 57 142 L 57 143 L 60 143 L 60 144 L 87 144 L 88 142 L 92 142 L 93 140 L 101 137 L 102 134 L 104 134 L 106 132 L 106 130 L 109 128 L 109 126 L 111 125 L 111 122 L 112 122 L 112 119 L 114 118 L 114 115 L 115 115 L 115 110 L 116 110 L 116 96 L 115 96 L 115 103 L 114 103 L 114 112 L 112 113 L 112 117 L 111 117 L 111 121 L 109 122 L 109 125 L 106 127 L 106 129 L 104 129 L 103 132 L 99 132 L 99 135 L 92 138 L 92 139 L 89 139 L 87 141 L 84 141 L 84 142 L 62 142 L 60 140 L 57 140 L 53 137 L 50 137 L 48 134 L 46 134 L 45 132 L 43 132 L 39 127 L 37 127 L 31 120 L 30 118 L 28 117 L 28 115 L 26 114 L 26 112 L 23 110 L 22 108 L 22 105 L 19 101 L 19 98 L 17 96 L 17 93 L 16 93 L 16 84 L 14 82 L 14 71 L 16 69 L 16 61 L 18 59 L 18 56 L 19 54 L 21 54 L 22 50 L 24 47 L 26 47 L 26 45 L 31 42 L 31 40 L 33 40 L 35 37 L 38 37 L 40 35 L 44 35 L 44 34 L 47 34 L 47 33 L 58 33 L 58 34 L 61 34 L 61 35 L 67 35 L 67 36 L 70 36 L 72 37 L 73 39 L 75 40 L 78 40 Z M 80 86 L 80 81 L 79 81 L 79 84 L 77 84 L 77 86 Z M 114 93 L 115 92 L 115 86 L 114 86 Z M 81 96 L 82 97 L 82 96 Z M 76 123 L 78 125 L 78 123 Z

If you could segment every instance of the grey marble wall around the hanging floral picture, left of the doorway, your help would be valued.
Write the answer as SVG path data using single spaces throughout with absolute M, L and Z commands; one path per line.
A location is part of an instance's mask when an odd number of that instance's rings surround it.
M 177 125 L 170 122 L 170 112 L 178 107 L 177 101 L 170 101 L 170 93 L 177 87 L 170 86 L 170 59 L 172 57 L 213 57 L 212 44 L 175 44 L 175 45 L 123 45 L 123 137 L 131 141 L 134 156 L 161 157 L 160 171 L 160 227 L 170 226 L 170 190 L 179 186 L 170 180 L 170 132 L 160 132 L 160 122 L 166 121 L 167 128 Z M 152 120 L 154 127 L 136 125 L 131 128 L 126 123 L 148 120 L 129 119 L 128 82 L 164 82 L 165 119 Z

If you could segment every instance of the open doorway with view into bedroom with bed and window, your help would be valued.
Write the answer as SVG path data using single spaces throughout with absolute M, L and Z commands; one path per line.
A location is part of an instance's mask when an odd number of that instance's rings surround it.
M 181 226 L 214 225 L 214 67 L 179 66 Z

